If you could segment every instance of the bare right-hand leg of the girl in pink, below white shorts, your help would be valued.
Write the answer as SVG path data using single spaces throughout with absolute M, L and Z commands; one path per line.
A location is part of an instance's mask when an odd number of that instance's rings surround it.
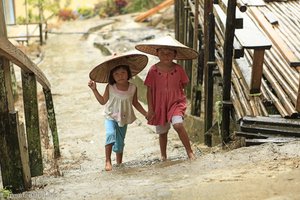
M 178 136 L 179 136 L 183 146 L 185 147 L 185 150 L 186 150 L 186 153 L 187 153 L 189 159 L 194 160 L 196 157 L 191 148 L 190 139 L 189 139 L 189 136 L 188 136 L 183 124 L 182 123 L 174 124 L 173 128 L 178 133 Z

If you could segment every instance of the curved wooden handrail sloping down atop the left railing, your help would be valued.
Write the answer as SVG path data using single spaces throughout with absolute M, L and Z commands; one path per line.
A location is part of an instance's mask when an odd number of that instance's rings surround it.
M 15 47 L 5 37 L 0 37 L 0 55 L 18 65 L 25 72 L 34 73 L 37 81 L 44 88 L 50 89 L 50 82 L 44 73 L 21 50 Z

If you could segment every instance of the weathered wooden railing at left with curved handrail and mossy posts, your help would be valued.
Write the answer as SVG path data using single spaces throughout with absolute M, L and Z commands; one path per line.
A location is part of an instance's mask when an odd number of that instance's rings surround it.
M 8 39 L 0 1 L 0 164 L 3 187 L 14 193 L 31 187 L 31 177 L 43 174 L 37 82 L 43 87 L 54 158 L 60 157 L 51 85 L 43 72 Z M 11 65 L 21 68 L 24 123 L 15 110 Z

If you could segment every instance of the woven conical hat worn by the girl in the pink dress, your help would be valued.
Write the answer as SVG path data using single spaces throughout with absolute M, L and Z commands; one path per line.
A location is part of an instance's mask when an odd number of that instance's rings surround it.
M 147 43 L 138 44 L 135 48 L 144 53 L 157 56 L 157 50 L 161 48 L 170 48 L 176 50 L 175 60 L 190 60 L 198 57 L 198 52 L 185 46 L 171 36 L 165 36 Z

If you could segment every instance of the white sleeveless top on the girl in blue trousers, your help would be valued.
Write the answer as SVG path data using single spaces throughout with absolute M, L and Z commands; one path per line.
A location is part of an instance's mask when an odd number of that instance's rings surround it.
M 106 119 L 115 120 L 120 127 L 131 124 L 136 120 L 132 107 L 132 100 L 136 86 L 129 83 L 127 91 L 118 90 L 116 84 L 109 85 L 109 99 L 105 105 L 104 115 Z

